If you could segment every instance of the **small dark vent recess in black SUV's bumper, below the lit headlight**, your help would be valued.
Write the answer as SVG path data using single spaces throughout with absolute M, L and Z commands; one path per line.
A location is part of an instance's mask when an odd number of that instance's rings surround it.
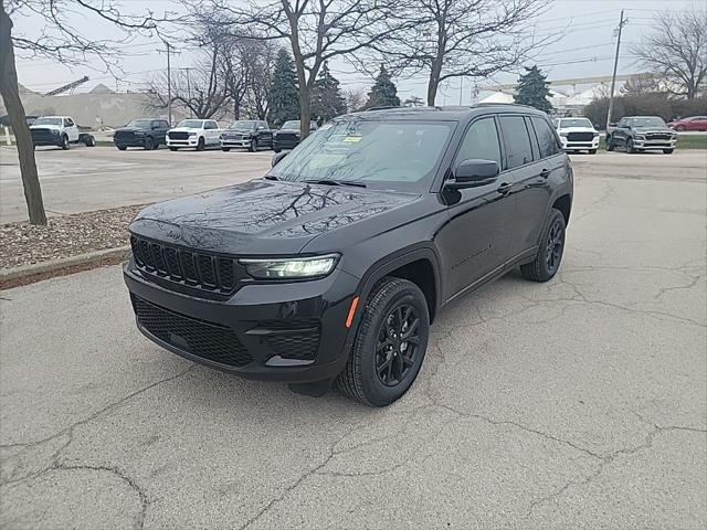
M 258 326 L 272 331 L 265 336 L 265 342 L 275 354 L 297 360 L 310 360 L 317 356 L 321 335 L 318 320 L 273 320 Z

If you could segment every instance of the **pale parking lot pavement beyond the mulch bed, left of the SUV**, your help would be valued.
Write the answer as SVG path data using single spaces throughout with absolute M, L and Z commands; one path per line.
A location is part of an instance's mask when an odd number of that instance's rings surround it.
M 155 202 L 243 182 L 265 173 L 274 155 L 83 146 L 68 151 L 41 147 L 35 152 L 49 215 Z M 17 151 L 8 147 L 0 147 L 0 223 L 25 220 Z

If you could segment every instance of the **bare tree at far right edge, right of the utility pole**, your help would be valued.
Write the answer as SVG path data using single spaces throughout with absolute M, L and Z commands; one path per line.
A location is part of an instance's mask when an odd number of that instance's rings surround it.
M 653 32 L 631 51 L 665 76 L 671 93 L 694 99 L 707 84 L 707 9 L 656 14 Z

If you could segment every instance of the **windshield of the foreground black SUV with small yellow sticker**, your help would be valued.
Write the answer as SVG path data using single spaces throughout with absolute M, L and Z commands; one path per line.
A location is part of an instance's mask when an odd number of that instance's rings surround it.
M 454 123 L 347 119 L 309 136 L 271 171 L 282 180 L 360 181 L 422 190 L 434 173 Z

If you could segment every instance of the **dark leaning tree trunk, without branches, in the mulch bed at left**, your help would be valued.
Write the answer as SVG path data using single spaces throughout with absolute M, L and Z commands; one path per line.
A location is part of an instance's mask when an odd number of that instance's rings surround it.
M 4 11 L 4 4 L 0 4 L 0 94 L 10 116 L 10 125 L 14 132 L 20 159 L 20 172 L 24 200 L 30 214 L 31 224 L 46 225 L 46 213 L 42 201 L 42 188 L 36 172 L 34 160 L 34 145 L 30 128 L 27 125 L 24 107 L 20 100 L 18 87 L 18 73 L 14 68 L 14 51 L 12 49 L 12 21 Z

